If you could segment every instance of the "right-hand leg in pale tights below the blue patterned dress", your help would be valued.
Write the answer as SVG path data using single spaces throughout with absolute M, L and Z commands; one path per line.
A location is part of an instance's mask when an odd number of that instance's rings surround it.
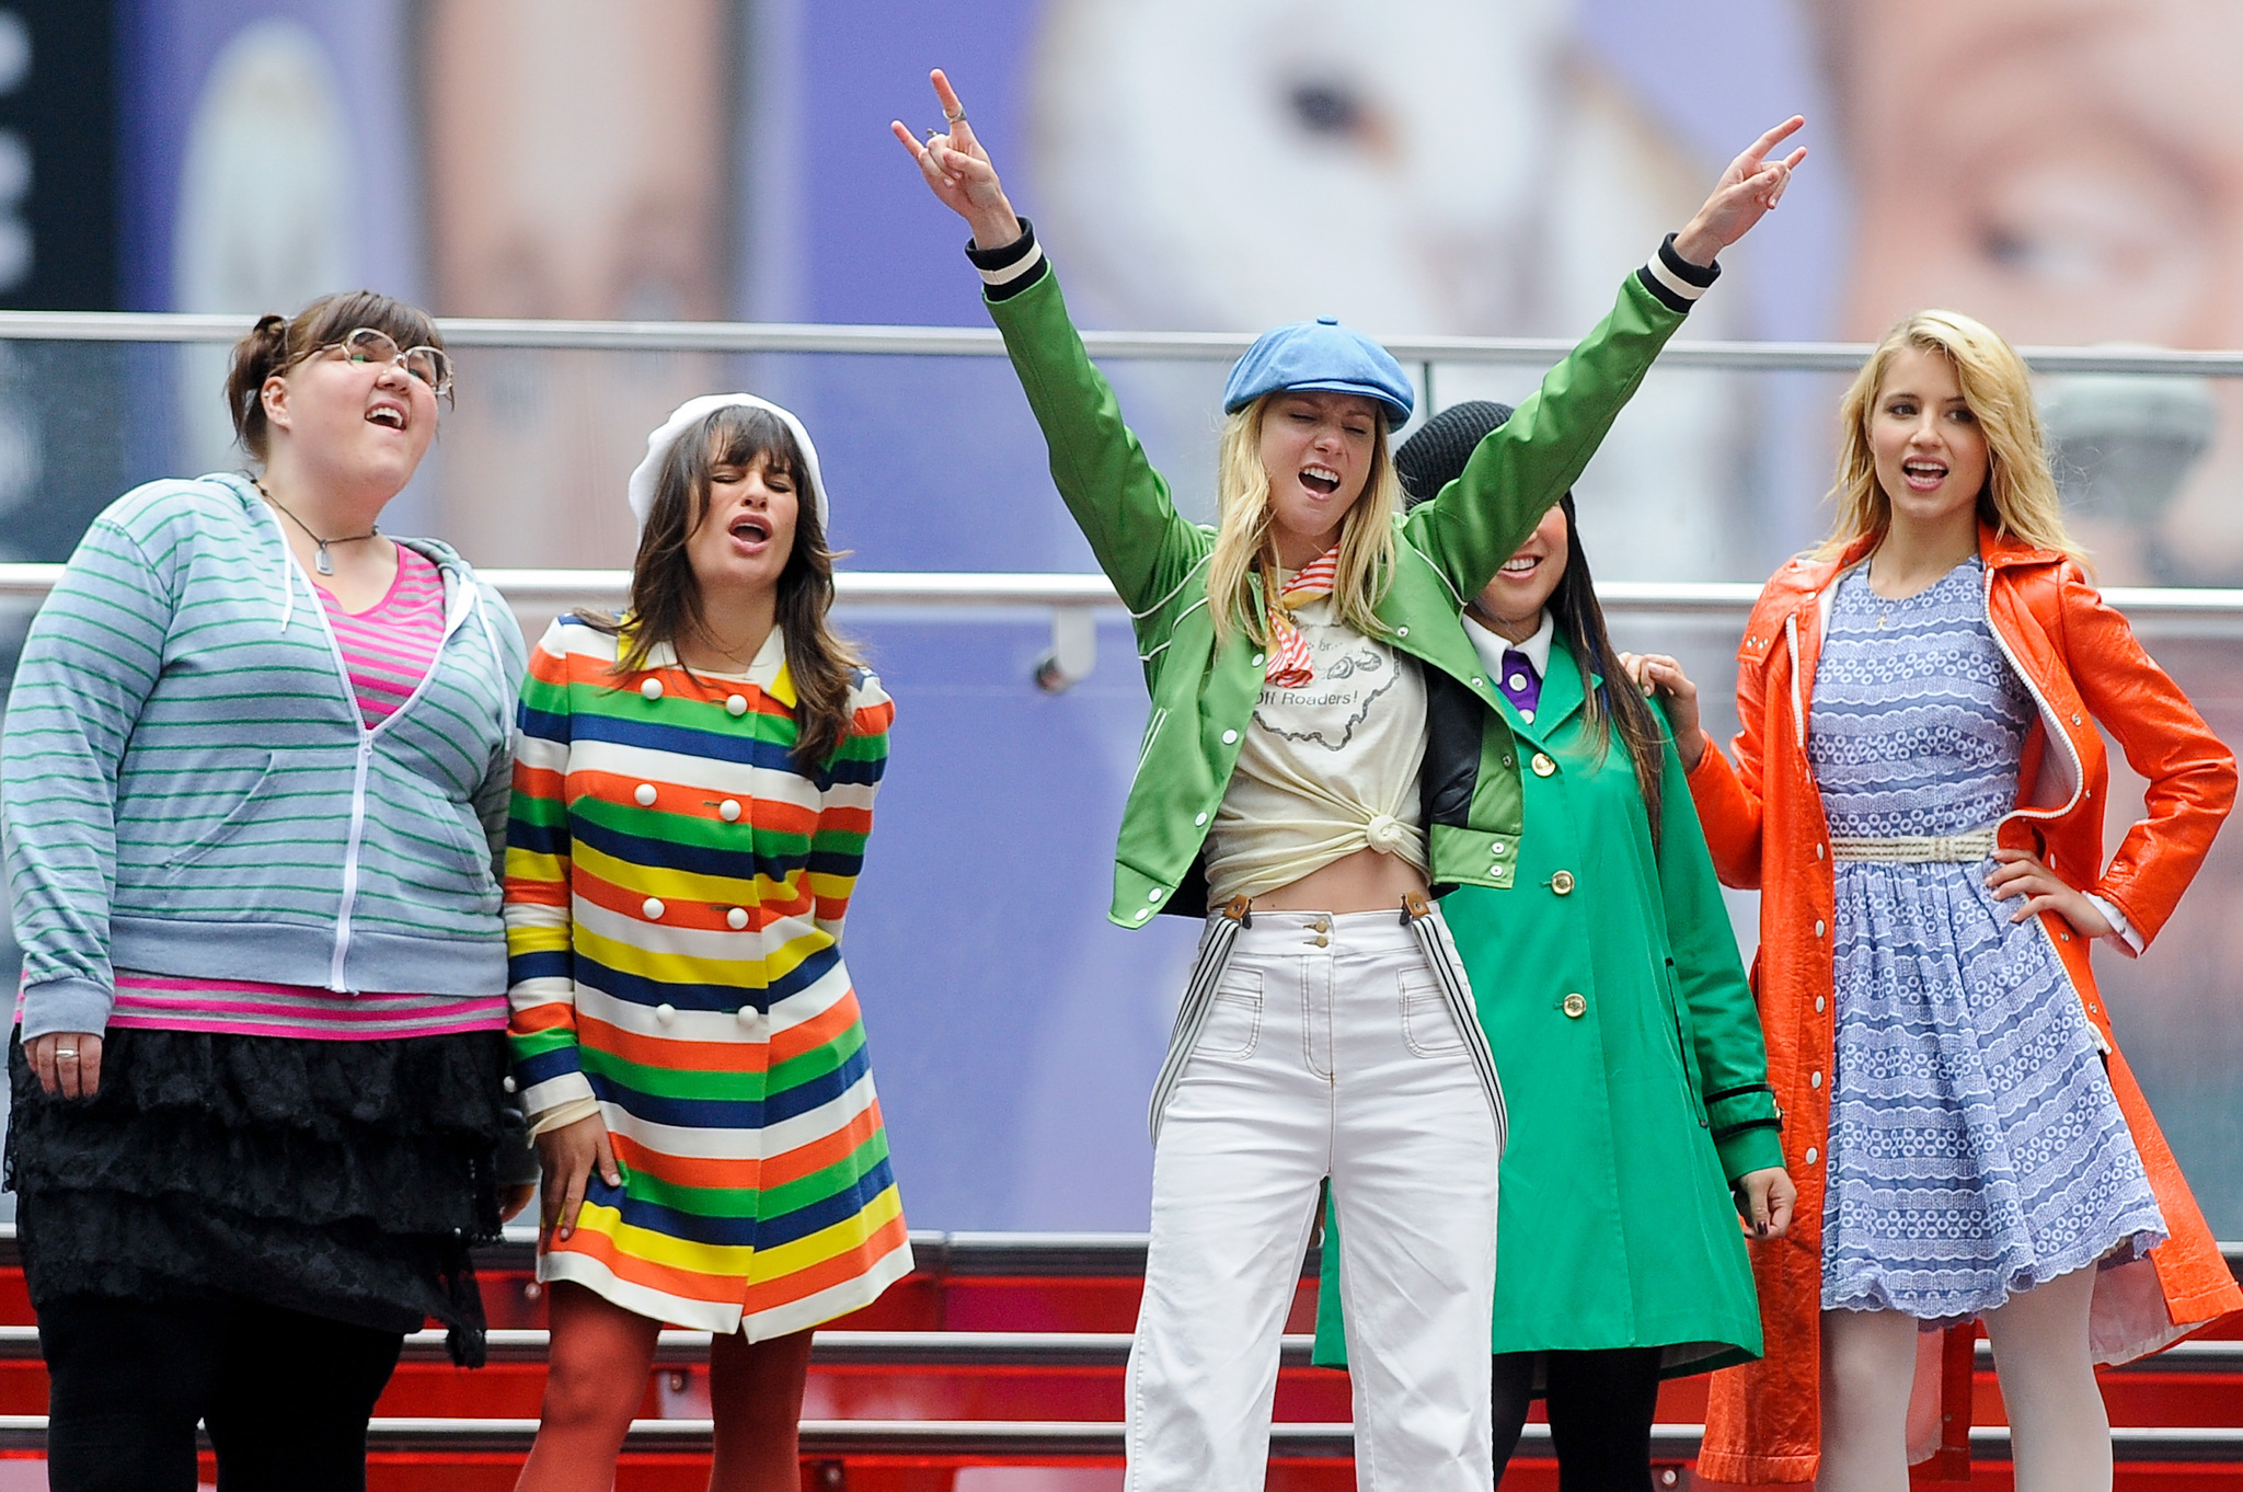
M 2088 1357 L 2093 1295 L 2090 1265 L 1985 1315 L 2010 1409 L 2016 1492 L 2111 1492 L 2111 1416 Z

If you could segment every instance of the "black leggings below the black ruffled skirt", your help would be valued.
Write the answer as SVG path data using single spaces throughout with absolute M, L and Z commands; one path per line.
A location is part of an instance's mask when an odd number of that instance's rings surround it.
M 366 1418 L 404 1337 L 238 1297 L 70 1295 L 38 1313 L 54 1492 L 363 1492 Z

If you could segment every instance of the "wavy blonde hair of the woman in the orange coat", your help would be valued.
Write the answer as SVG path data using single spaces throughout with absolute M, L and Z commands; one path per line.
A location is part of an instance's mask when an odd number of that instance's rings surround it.
M 2025 359 L 1983 321 L 1963 312 L 1916 312 L 1904 316 L 1862 363 L 1853 388 L 1839 402 L 1837 482 L 1830 498 L 1837 523 L 1817 550 L 1828 559 L 1857 538 L 1884 538 L 1893 525 L 1893 498 L 1877 485 L 1877 458 L 1868 446 L 1868 422 L 1877 390 L 1904 348 L 1938 352 L 1956 370 L 1963 402 L 1985 431 L 1987 473 L 1978 494 L 1978 518 L 2041 550 L 2086 563 L 2086 550 L 2064 527 L 2064 503 L 2048 469 L 2041 411 L 2032 402 Z

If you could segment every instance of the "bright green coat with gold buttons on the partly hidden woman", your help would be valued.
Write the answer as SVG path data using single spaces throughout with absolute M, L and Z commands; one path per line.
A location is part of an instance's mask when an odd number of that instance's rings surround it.
M 1532 725 L 1496 702 L 1525 754 L 1514 884 L 1442 900 L 1512 1124 L 1492 1348 L 1664 1346 L 1669 1375 L 1700 1373 L 1761 1353 L 1729 1182 L 1783 1164 L 1767 1050 L 1673 745 L 1653 853 L 1566 644 Z M 1328 1221 L 1323 1364 L 1346 1362 L 1335 1241 Z

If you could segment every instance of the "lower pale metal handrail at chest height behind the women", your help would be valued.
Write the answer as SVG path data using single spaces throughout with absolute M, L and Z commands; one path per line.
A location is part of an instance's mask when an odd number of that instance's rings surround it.
M 0 563 L 0 601 L 45 597 L 61 565 Z M 572 606 L 621 606 L 630 590 L 628 570 L 480 570 L 516 610 L 559 613 Z M 1043 610 L 1052 621 L 1052 646 L 1036 660 L 1043 689 L 1077 684 L 1097 669 L 1099 613 L 1122 608 L 1104 574 L 978 572 L 978 570 L 841 570 L 837 601 L 846 608 L 897 608 L 949 613 Z M 1727 621 L 1743 630 L 1752 601 L 1761 595 L 1741 581 L 1602 581 L 1597 597 L 1615 619 L 1693 617 Z M 2111 588 L 2104 599 L 2147 637 L 2236 637 L 2243 639 L 2243 590 L 2212 588 Z

